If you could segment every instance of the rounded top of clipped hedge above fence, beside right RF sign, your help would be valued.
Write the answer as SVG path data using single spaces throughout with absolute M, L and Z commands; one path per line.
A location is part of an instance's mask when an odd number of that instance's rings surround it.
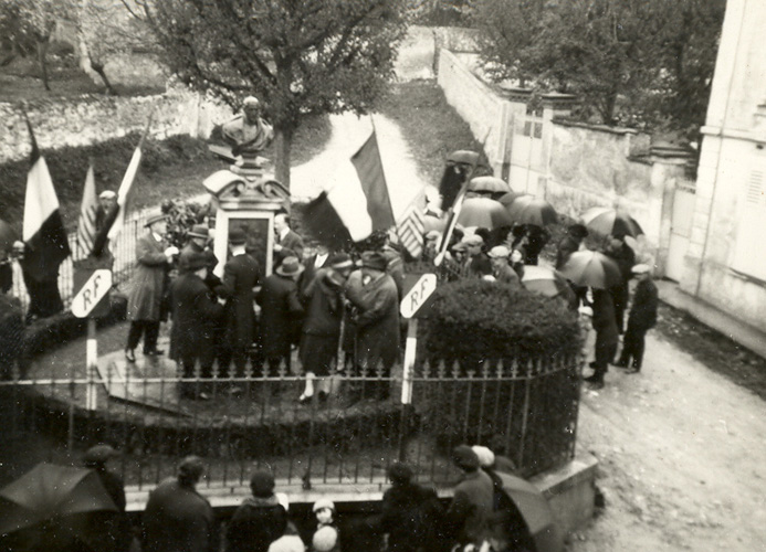
M 430 361 L 556 359 L 580 349 L 577 316 L 558 299 L 479 279 L 440 286 L 426 319 Z

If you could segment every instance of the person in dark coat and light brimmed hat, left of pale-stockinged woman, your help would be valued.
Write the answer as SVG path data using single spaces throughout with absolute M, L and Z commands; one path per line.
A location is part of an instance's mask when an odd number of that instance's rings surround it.
M 274 274 L 266 276 L 255 300 L 261 306 L 261 339 L 269 375 L 277 375 L 280 365 L 290 372 L 290 355 L 295 329 L 303 315 L 296 279 L 303 266 L 297 257 L 285 257 Z

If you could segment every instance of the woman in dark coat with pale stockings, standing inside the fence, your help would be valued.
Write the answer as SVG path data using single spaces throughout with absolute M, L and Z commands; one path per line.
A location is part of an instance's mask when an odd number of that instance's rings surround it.
M 338 352 L 340 321 L 343 320 L 343 288 L 354 267 L 351 258 L 345 253 L 336 253 L 319 268 L 316 276 L 303 290 L 306 316 L 301 337 L 301 364 L 306 376 L 306 389 L 301 402 L 314 396 L 314 379 L 329 375 L 333 359 Z M 321 390 L 319 396 L 326 396 Z

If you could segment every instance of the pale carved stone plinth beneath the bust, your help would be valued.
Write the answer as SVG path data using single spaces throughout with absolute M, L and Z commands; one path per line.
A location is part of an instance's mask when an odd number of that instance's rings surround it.
M 234 227 L 248 236 L 246 251 L 258 261 L 261 277 L 272 272 L 274 215 L 290 206 L 290 192 L 263 167 L 263 158 L 244 158 L 229 170 L 208 177 L 204 189 L 214 198 L 216 237 L 213 251 L 219 259 L 216 274 L 222 276 L 228 257 L 229 234 Z

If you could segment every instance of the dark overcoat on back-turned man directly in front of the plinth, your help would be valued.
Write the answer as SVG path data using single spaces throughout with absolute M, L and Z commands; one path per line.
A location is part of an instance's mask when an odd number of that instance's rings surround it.
M 253 288 L 258 285 L 260 270 L 258 261 L 244 253 L 227 261 L 220 288 L 225 297 L 224 323 L 229 344 L 248 347 L 255 338 L 255 311 Z

